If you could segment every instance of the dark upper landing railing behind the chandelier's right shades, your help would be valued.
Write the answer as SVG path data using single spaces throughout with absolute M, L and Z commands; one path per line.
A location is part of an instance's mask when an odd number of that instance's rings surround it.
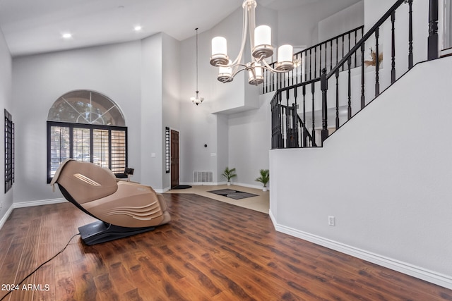
M 279 90 L 283 87 L 297 85 L 306 80 L 319 78 L 323 68 L 333 68 L 344 54 L 350 51 L 364 34 L 364 26 L 344 32 L 342 35 L 332 37 L 312 47 L 303 49 L 294 54 L 295 68 L 289 73 L 270 73 L 264 70 L 264 82 L 261 93 L 265 94 Z M 355 56 L 354 67 L 361 61 Z M 270 66 L 275 68 L 275 63 Z

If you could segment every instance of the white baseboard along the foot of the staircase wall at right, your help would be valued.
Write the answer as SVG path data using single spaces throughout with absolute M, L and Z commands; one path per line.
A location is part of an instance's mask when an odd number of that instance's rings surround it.
M 368 252 L 366 250 L 361 250 L 361 249 L 358 249 L 357 247 L 345 245 L 341 242 L 330 240 L 328 238 L 323 238 L 318 235 L 314 235 L 314 234 L 307 233 L 304 231 L 299 231 L 297 229 L 290 228 L 287 226 L 279 225 L 276 222 L 275 216 L 273 216 L 273 213 L 271 210 L 269 211 L 268 214 L 270 216 L 271 221 L 273 222 L 273 226 L 275 227 L 275 230 L 278 232 L 292 235 L 296 238 L 301 238 L 302 240 L 307 240 L 309 242 L 313 242 L 316 245 L 328 247 L 328 249 L 342 252 L 344 254 L 348 254 L 353 257 L 357 257 L 359 259 L 366 260 L 367 262 L 371 262 L 373 264 L 378 264 L 379 266 L 384 266 L 384 267 L 386 267 L 388 269 L 392 269 L 394 271 L 399 271 L 400 273 L 407 274 L 407 275 L 413 276 L 415 278 L 420 278 L 424 281 L 428 281 L 430 283 L 440 285 L 444 288 L 452 289 L 452 276 L 437 273 L 436 271 L 431 271 L 429 269 L 424 269 L 420 266 L 408 264 L 407 262 L 400 262 L 399 260 L 396 260 L 396 259 L 392 259 L 389 257 L 382 256 L 380 254 Z

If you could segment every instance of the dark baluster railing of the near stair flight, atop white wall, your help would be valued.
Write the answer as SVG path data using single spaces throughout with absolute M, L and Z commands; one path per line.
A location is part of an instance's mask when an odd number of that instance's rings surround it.
M 403 4 L 408 7 L 402 6 Z M 424 1 L 417 1 L 417 5 L 419 5 L 417 8 L 421 8 L 420 6 L 424 4 Z M 331 135 L 331 132 L 340 128 L 364 106 L 378 97 L 383 87 L 391 86 L 408 72 L 414 66 L 415 58 L 417 62 L 438 58 L 438 0 L 429 0 L 429 37 L 425 43 L 413 44 L 412 5 L 413 0 L 397 0 L 362 39 L 359 39 L 343 56 L 343 59 L 330 68 L 329 72 L 323 66 L 319 78 L 280 87 L 275 92 L 275 96 L 270 102 L 273 149 L 323 145 L 323 141 Z M 408 23 L 406 27 L 403 25 L 398 27 L 402 29 L 399 31 L 396 31 L 396 16 L 403 17 L 400 19 L 405 19 Z M 389 49 L 390 63 L 386 63 L 384 66 L 381 49 L 383 45 L 379 40 L 381 28 L 386 29 L 385 35 L 389 37 L 389 39 L 385 39 L 384 49 Z M 400 51 L 399 45 L 396 45 L 396 32 L 403 32 L 403 29 L 407 32 L 408 37 L 405 36 L 405 50 Z M 397 41 L 402 39 L 403 35 L 398 34 Z M 371 47 L 369 47 L 370 45 Z M 423 50 L 425 49 L 423 47 L 425 46 L 427 46 L 427 55 L 424 56 Z M 364 54 L 367 47 L 371 48 L 369 60 L 365 60 Z M 419 55 L 415 56 L 415 54 Z M 355 63 L 357 57 L 361 61 L 359 66 Z M 369 85 L 370 89 L 368 89 Z M 333 88 L 328 89 L 328 87 Z M 334 101 L 329 102 L 330 99 Z M 367 101 L 367 99 L 371 100 Z M 294 111 L 302 122 L 293 117 Z M 335 115 L 335 126 L 328 127 L 328 116 L 331 114 Z M 309 133 L 309 136 L 306 133 Z M 304 140 L 311 141 L 311 143 L 303 143 Z

